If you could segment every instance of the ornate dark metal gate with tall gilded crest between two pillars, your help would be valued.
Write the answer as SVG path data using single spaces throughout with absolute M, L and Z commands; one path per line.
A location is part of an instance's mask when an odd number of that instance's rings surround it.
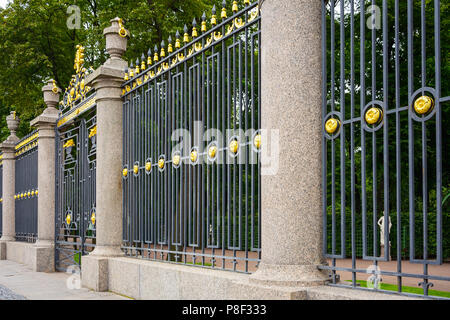
M 96 104 L 85 86 L 84 48 L 77 46 L 77 74 L 66 89 L 56 139 L 56 269 L 80 266 L 95 247 Z

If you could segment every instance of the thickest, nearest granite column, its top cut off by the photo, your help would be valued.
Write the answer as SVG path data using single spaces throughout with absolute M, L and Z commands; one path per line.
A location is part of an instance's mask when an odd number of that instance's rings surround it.
M 321 1 L 265 0 L 261 23 L 262 129 L 279 130 L 279 169 L 262 176 L 262 261 L 251 281 L 321 285 Z

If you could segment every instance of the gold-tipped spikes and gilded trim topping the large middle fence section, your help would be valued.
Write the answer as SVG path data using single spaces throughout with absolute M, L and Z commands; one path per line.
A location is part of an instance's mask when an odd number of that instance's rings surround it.
M 245 8 L 251 5 L 249 0 L 244 0 L 243 4 Z M 216 41 L 220 41 L 224 37 L 229 36 L 233 31 L 241 29 L 246 25 L 252 24 L 259 16 L 259 8 L 257 6 L 257 3 L 254 3 L 251 6 L 254 7 L 252 7 L 251 9 L 247 9 L 251 11 L 245 11 L 244 13 L 241 12 L 242 14 L 246 15 L 246 18 L 244 19 L 243 17 L 239 16 L 241 13 L 238 13 L 238 1 L 233 1 L 233 16 L 228 18 L 227 9 L 224 2 L 224 6 L 221 10 L 220 16 L 222 18 L 222 26 L 225 32 L 218 31 L 222 29 L 220 28 L 220 25 L 217 25 L 216 7 L 214 6 L 212 9 L 212 17 L 210 20 L 210 31 L 207 31 L 206 13 L 203 13 L 202 15 L 200 32 L 202 33 L 203 37 L 201 40 L 196 41 L 196 38 L 198 38 L 200 35 L 197 29 L 197 21 L 196 19 L 194 19 L 192 22 L 192 32 L 190 33 L 192 38 L 190 38 L 189 36 L 189 29 L 187 28 L 187 26 L 184 27 L 183 47 L 181 47 L 181 35 L 178 31 L 175 34 L 175 51 L 172 45 L 172 37 L 168 38 L 168 54 L 166 53 L 166 43 L 164 41 L 161 42 L 160 49 L 158 49 L 158 46 L 155 45 L 153 54 L 151 50 L 148 50 L 147 59 L 145 59 L 145 55 L 143 54 L 141 56 L 141 62 L 137 60 L 136 66 L 131 63 L 130 68 L 125 71 L 123 79 L 127 83 L 122 89 L 122 95 L 126 95 L 128 92 L 136 89 L 149 80 L 154 79 L 162 72 L 174 68 L 179 63 L 182 63 L 187 58 L 193 56 L 195 53 L 204 50 L 213 45 Z M 125 37 L 126 29 L 123 27 L 122 23 L 123 21 L 122 19 L 120 19 L 119 35 Z M 124 31 L 122 31 L 122 29 Z M 210 34 L 207 34 L 208 32 Z

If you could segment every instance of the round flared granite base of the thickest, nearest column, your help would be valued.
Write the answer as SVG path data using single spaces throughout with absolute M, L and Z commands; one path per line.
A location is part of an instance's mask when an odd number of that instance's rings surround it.
M 272 265 L 261 263 L 250 282 L 283 287 L 313 287 L 327 283 L 328 275 L 316 265 Z

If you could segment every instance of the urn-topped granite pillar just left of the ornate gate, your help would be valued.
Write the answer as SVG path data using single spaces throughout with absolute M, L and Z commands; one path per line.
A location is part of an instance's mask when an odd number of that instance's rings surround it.
M 30 122 L 38 129 L 38 240 L 34 248 L 33 269 L 55 271 L 55 126 L 61 90 L 50 80 L 42 88 L 47 108 Z

